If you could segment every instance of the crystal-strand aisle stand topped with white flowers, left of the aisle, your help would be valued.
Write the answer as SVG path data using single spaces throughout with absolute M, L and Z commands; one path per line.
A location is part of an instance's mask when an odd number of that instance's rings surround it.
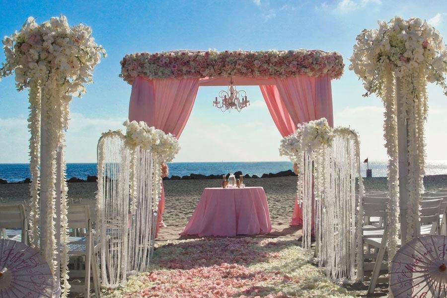
M 124 126 L 126 135 L 121 131 L 102 134 L 97 149 L 96 210 L 101 276 L 107 287 L 118 286 L 129 274 L 146 271 L 157 226 L 161 166 L 180 149 L 173 135 L 145 122 L 126 121 Z

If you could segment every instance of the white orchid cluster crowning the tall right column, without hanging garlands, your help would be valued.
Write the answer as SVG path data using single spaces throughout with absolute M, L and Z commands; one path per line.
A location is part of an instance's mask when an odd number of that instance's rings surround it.
M 382 93 L 384 73 L 402 76 L 420 67 L 424 78 L 441 85 L 447 95 L 447 51 L 440 32 L 420 18 L 396 16 L 378 25 L 357 36 L 350 59 L 349 69 L 364 81 L 365 95 Z

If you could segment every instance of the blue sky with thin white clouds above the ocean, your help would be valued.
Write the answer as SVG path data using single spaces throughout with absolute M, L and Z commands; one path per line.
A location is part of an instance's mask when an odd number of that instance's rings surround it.
M 96 161 L 101 132 L 121 128 L 127 118 L 131 86 L 118 77 L 127 53 L 178 49 L 338 51 L 345 74 L 332 82 L 335 125 L 350 125 L 361 135 L 362 157 L 386 159 L 382 104 L 365 92 L 348 70 L 355 37 L 377 20 L 395 15 L 429 20 L 447 36 L 446 1 L 384 0 L 239 0 L 239 1 L 0 1 L 0 35 L 18 30 L 28 16 L 39 22 L 60 13 L 70 24 L 92 27 L 108 57 L 94 72 L 87 94 L 74 98 L 67 132 L 68 162 Z M 0 62 L 4 55 L 0 54 Z M 241 87 L 242 88 L 242 87 Z M 278 154 L 281 136 L 257 87 L 243 87 L 252 105 L 241 113 L 222 113 L 211 101 L 222 87 L 201 87 L 180 138 L 175 161 L 285 160 Z M 447 159 L 447 98 L 429 85 L 427 157 Z M 0 82 L 0 163 L 27 162 L 27 92 L 17 92 L 13 77 Z M 440 129 L 441 128 L 441 129 Z

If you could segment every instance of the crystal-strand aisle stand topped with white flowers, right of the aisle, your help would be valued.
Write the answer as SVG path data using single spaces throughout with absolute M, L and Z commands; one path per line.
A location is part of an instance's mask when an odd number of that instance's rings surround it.
M 355 263 L 360 268 L 363 256 L 359 239 L 362 237 L 364 187 L 357 132 L 343 127 L 332 129 L 325 118 L 310 121 L 298 125 L 294 134 L 281 141 L 280 154 L 289 156 L 298 168 L 297 197 L 303 211 L 302 245 L 308 257 L 314 234 L 318 265 L 325 267 L 329 277 L 361 280 L 361 270 L 357 270 L 355 277 L 354 268 Z M 357 210 L 356 176 L 360 194 Z M 341 214 L 344 216 L 340 217 Z

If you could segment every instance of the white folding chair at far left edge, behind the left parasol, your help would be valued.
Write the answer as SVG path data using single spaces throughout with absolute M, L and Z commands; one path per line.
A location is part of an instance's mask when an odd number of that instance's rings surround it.
M 28 245 L 28 221 L 23 205 L 0 206 L 0 231 L 0 238 L 13 239 L 20 234 L 20 241 Z

